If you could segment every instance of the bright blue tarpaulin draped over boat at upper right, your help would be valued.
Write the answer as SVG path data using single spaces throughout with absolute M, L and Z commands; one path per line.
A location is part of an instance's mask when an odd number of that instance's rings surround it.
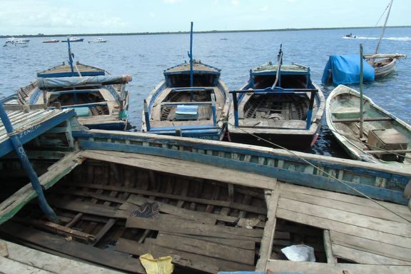
M 365 60 L 362 61 L 362 64 L 364 81 L 374 81 L 374 68 Z M 321 78 L 323 83 L 328 83 L 330 69 L 333 71 L 333 83 L 335 85 L 360 83 L 360 54 L 330 56 L 324 68 L 323 78 Z

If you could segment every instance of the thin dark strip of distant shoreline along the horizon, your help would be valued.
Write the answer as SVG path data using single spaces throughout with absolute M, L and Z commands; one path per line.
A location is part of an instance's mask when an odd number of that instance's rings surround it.
M 411 26 L 387 26 L 387 28 L 410 28 Z M 251 29 L 234 31 L 194 31 L 194 34 L 229 34 L 238 32 L 273 32 L 273 31 L 325 31 L 332 29 L 380 29 L 381 26 L 352 26 L 339 28 L 305 28 L 305 29 Z M 106 34 L 71 34 L 72 36 L 127 36 L 127 35 L 160 35 L 160 34 L 188 34 L 190 31 L 161 31 L 161 32 L 133 32 L 133 33 L 106 33 Z M 0 38 L 8 37 L 65 37 L 68 34 L 21 34 L 0 35 Z

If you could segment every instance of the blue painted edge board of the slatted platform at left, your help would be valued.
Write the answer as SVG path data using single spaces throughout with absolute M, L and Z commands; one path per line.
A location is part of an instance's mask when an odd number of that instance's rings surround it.
M 40 136 L 42 133 L 49 131 L 51 128 L 59 125 L 60 123 L 67 121 L 68 119 L 75 116 L 75 111 L 70 109 L 68 111 L 61 112 L 54 116 L 53 118 L 49 118 L 46 121 L 42 121 L 41 123 L 37 123 L 30 128 L 26 128 L 24 131 L 19 132 L 19 138 L 22 144 L 27 143 L 37 136 Z M 19 128 L 15 128 L 19 129 Z M 6 155 L 13 151 L 13 146 L 11 144 L 10 139 L 8 138 L 6 141 L 0 143 L 0 157 Z

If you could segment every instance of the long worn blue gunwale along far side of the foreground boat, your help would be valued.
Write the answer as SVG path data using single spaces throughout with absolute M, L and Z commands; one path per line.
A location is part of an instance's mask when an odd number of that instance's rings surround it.
M 303 171 L 288 170 L 287 167 L 278 168 L 275 166 L 267 166 L 266 164 L 258 163 L 258 160 L 255 159 L 252 159 L 250 162 L 245 162 L 241 160 L 225 158 L 225 156 L 208 155 L 193 151 L 193 149 L 203 151 L 210 150 L 213 151 L 213 153 L 223 152 L 229 153 L 229 155 L 231 155 L 230 153 L 237 153 L 255 156 L 256 158 L 263 157 L 274 161 L 283 160 L 293 162 L 293 164 L 300 164 L 303 166 L 307 165 L 302 160 L 294 156 L 284 156 L 275 153 L 258 151 L 254 149 L 240 147 L 237 148 L 234 146 L 219 146 L 218 143 L 213 143 L 212 141 L 210 141 L 210 143 L 196 143 L 192 141 L 184 141 L 183 138 L 178 138 L 178 140 L 168 138 L 159 139 L 155 136 L 121 136 L 118 134 L 93 132 L 77 132 L 73 133 L 73 136 L 78 138 L 79 146 L 83 149 L 124 151 L 129 153 L 143 153 L 148 155 L 178 158 L 185 161 L 194 161 L 197 163 L 205 163 L 213 166 L 233 168 L 241 171 L 258 173 L 260 175 L 278 178 L 278 180 L 280 181 L 295 183 L 302 186 L 310 186 L 313 188 L 320 188 L 328 191 L 338 191 L 341 193 L 357 195 L 357 193 L 350 190 L 350 188 L 347 188 L 346 186 L 342 185 L 342 183 L 325 176 L 304 173 Z M 88 140 L 89 138 L 91 138 L 91 141 Z M 107 143 L 107 139 L 110 139 L 111 143 Z M 126 140 L 138 143 L 127 144 Z M 146 145 L 143 145 L 143 143 L 146 143 Z M 147 145 L 147 143 L 149 144 Z M 164 144 L 168 145 L 167 147 L 169 148 L 164 148 L 164 146 L 162 146 Z M 172 148 L 173 146 L 183 147 L 184 149 L 183 151 L 176 150 L 176 148 Z M 315 166 L 321 166 L 322 168 L 332 168 L 336 171 L 342 170 L 344 171 L 344 173 L 347 173 L 350 176 L 370 176 L 387 178 L 387 187 L 395 188 L 394 190 L 380 188 L 377 186 L 362 183 L 352 183 L 349 181 L 345 181 L 345 183 L 349 184 L 350 186 L 356 188 L 359 191 L 362 191 L 363 193 L 366 193 L 368 196 L 373 198 L 392 201 L 404 205 L 408 203 L 408 199 L 403 198 L 402 193 L 406 184 L 411 179 L 411 173 L 402 174 L 381 171 L 379 170 L 379 168 L 381 168 L 380 166 L 375 166 L 375 168 L 358 167 L 350 166 L 349 164 L 343 165 L 341 163 L 333 163 L 333 161 L 327 160 L 313 160 L 310 158 L 308 158 L 308 161 L 310 161 L 310 163 L 313 163 Z M 353 163 L 357 162 L 354 161 Z

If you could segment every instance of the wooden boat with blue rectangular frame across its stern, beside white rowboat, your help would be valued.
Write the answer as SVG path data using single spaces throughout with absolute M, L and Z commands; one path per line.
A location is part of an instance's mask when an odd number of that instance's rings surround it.
M 311 81 L 310 68 L 283 65 L 258 66 L 240 91 L 233 93 L 228 132 L 237 143 L 306 149 L 313 146 L 320 131 L 325 99 Z M 271 143 L 266 142 L 270 141 Z

